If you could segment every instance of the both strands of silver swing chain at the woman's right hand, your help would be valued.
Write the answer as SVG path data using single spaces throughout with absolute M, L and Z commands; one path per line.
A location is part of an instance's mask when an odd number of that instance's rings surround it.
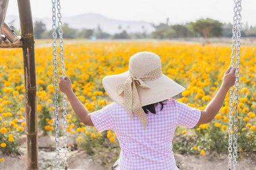
M 235 7 L 234 7 L 234 16 L 233 16 L 233 36 L 232 36 L 232 53 L 231 53 L 231 62 L 230 62 L 230 66 L 234 67 L 234 58 L 236 57 L 236 82 L 235 82 L 235 87 L 236 90 L 233 90 L 233 87 L 230 88 L 230 94 L 229 94 L 229 170 L 232 169 L 232 156 L 233 156 L 233 169 L 236 170 L 236 166 L 237 166 L 237 131 L 238 131 L 238 126 L 237 126 L 237 122 L 238 122 L 238 104 L 239 104 L 239 100 L 238 100 L 238 96 L 239 96 L 239 70 L 240 70 L 240 37 L 241 37 L 241 23 L 240 20 L 242 19 L 241 16 L 241 1 L 242 0 L 234 0 L 235 3 Z M 236 50 L 236 53 L 235 53 Z M 233 96 L 235 95 L 235 99 L 233 102 Z M 233 105 L 235 105 L 236 107 L 233 108 Z M 233 111 L 234 111 L 234 126 L 233 126 Z M 234 130 L 234 135 L 233 135 L 233 130 Z M 233 139 L 234 142 L 232 141 L 232 135 L 233 135 Z M 232 147 L 232 143 L 233 143 L 233 147 Z M 232 155 L 232 149 L 233 150 L 233 155 Z

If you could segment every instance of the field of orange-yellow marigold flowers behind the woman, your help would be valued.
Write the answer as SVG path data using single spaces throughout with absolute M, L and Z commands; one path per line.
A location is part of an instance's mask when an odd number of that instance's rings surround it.
M 40 42 L 40 41 L 39 41 Z M 51 41 L 48 41 L 51 42 Z M 216 95 L 222 76 L 230 65 L 229 45 L 196 45 L 167 41 L 109 42 L 84 41 L 64 44 L 66 74 L 71 78 L 73 90 L 90 111 L 111 103 L 102 87 L 106 75 L 128 70 L 129 58 L 138 52 L 150 51 L 162 60 L 162 71 L 187 90 L 174 98 L 198 109 L 204 109 Z M 51 46 L 37 47 L 37 111 L 40 132 L 55 135 L 53 110 L 53 55 Z M 240 92 L 238 116 L 238 151 L 256 147 L 256 48 L 242 46 L 240 60 Z M 60 62 L 58 63 L 60 68 Z M 59 75 L 61 69 L 59 69 Z M 24 75 L 22 49 L 0 51 L 0 151 L 17 153 L 18 138 L 25 134 Z M 62 94 L 59 92 L 59 96 Z M 60 114 L 62 103 L 60 102 Z M 60 116 L 61 117 L 61 116 Z M 79 147 L 93 153 L 94 146 L 118 146 L 113 131 L 100 133 L 86 127 L 68 104 L 68 135 L 76 138 Z M 193 129 L 177 129 L 174 150 L 202 154 L 228 151 L 229 94 L 216 118 L 209 124 Z M 157 139 L 156 139 L 157 140 Z M 187 142 L 186 142 L 187 141 Z M 4 161 L 0 157 L 0 161 Z

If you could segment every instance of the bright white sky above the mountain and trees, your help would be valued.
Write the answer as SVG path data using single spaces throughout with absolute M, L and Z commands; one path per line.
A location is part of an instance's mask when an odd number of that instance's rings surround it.
M 31 0 L 33 18 L 51 18 L 51 0 Z M 233 23 L 234 0 L 61 0 L 61 15 L 102 14 L 110 19 L 184 24 L 201 18 Z M 9 0 L 7 16 L 18 15 L 16 0 Z M 242 23 L 256 25 L 256 0 L 242 1 Z

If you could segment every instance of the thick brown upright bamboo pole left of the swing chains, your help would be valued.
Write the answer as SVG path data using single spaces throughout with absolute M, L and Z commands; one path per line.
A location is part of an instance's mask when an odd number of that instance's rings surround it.
M 38 169 L 38 125 L 36 113 L 36 67 L 34 29 L 30 0 L 18 0 L 22 37 L 27 133 L 27 169 Z

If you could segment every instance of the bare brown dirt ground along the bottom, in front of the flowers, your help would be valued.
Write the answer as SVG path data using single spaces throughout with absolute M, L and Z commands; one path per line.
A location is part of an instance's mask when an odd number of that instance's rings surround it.
M 27 155 L 22 156 L 5 156 L 5 160 L 0 163 L 0 169 L 26 169 Z M 227 155 L 189 155 L 184 156 L 175 154 L 176 162 L 181 165 L 181 170 L 218 170 L 228 169 Z M 61 154 L 61 160 L 63 155 Z M 55 169 L 55 152 L 39 151 L 39 169 Z M 62 162 L 61 162 L 62 163 Z M 88 170 L 105 170 L 108 169 L 104 164 L 89 156 L 85 151 L 72 151 L 68 154 L 69 169 L 88 169 Z M 111 165 L 109 166 L 111 167 Z M 255 170 L 256 164 L 251 160 L 240 160 L 237 163 L 237 170 Z

